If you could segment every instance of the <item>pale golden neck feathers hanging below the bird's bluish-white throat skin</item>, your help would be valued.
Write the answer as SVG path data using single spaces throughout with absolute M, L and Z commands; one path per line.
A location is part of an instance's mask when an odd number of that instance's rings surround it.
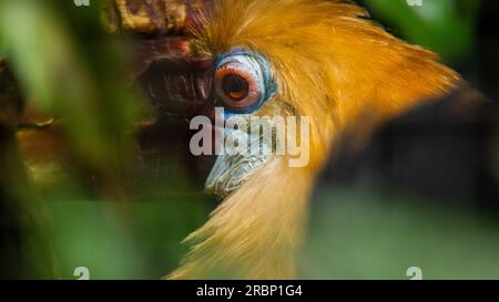
M 312 185 L 285 157 L 271 159 L 185 239 L 192 249 L 169 278 L 293 278 Z

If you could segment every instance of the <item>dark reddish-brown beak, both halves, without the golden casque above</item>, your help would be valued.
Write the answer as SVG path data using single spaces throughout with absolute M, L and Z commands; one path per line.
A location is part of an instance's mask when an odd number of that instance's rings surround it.
M 194 133 L 190 122 L 197 115 L 212 118 L 213 62 L 194 55 L 187 38 L 163 37 L 135 43 L 132 82 L 152 108 L 150 117 L 140 125 L 143 157 L 151 157 L 146 160 L 151 163 L 164 156 L 182 162 L 194 187 L 202 192 L 214 158 L 192 155 L 189 143 Z

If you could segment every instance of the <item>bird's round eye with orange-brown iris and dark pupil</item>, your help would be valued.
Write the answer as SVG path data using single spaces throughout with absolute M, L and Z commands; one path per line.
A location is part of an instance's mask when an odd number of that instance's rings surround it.
M 262 88 L 257 75 L 240 62 L 228 62 L 215 71 L 215 93 L 228 110 L 244 111 L 257 105 Z

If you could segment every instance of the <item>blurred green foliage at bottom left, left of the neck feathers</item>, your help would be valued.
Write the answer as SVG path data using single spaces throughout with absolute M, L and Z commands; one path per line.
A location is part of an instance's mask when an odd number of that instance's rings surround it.
M 160 279 L 186 251 L 180 241 L 207 216 L 196 198 L 136 202 L 122 219 L 98 200 L 53 200 L 53 237 L 61 277 L 77 279 L 85 267 L 91 279 Z

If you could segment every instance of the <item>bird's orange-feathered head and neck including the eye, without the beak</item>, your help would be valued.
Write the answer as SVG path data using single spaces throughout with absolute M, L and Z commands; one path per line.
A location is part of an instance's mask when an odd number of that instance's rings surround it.
M 286 155 L 220 156 L 206 188 L 222 202 L 185 239 L 191 251 L 171 279 L 295 278 L 310 191 L 342 137 L 363 140 L 462 85 L 434 53 L 391 37 L 349 1 L 214 0 L 192 34 L 195 51 L 215 59 L 225 117 L 307 116 L 310 159 L 293 168 Z

